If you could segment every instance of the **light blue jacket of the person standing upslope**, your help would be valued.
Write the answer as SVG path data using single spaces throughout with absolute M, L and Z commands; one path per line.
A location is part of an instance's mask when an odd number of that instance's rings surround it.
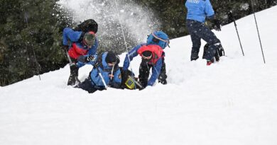
M 214 18 L 214 10 L 210 0 L 187 0 L 185 6 L 188 9 L 188 20 L 204 23 L 206 17 Z

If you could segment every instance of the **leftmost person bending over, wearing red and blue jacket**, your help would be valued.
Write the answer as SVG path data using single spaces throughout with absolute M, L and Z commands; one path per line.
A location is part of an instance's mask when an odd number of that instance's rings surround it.
M 89 30 L 89 29 L 86 29 Z M 94 31 L 92 31 L 94 30 Z M 78 79 L 78 70 L 85 64 L 77 63 L 77 59 L 84 55 L 94 55 L 97 52 L 98 40 L 96 37 L 97 27 L 89 31 L 75 31 L 72 28 L 63 30 L 63 45 L 64 50 L 68 53 L 70 64 L 70 77 L 67 81 L 68 86 L 73 86 L 80 83 Z

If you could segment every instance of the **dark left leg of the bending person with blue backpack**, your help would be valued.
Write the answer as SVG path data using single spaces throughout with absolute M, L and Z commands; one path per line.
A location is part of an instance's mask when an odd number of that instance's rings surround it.
M 146 64 L 146 62 L 141 62 L 141 65 L 139 66 L 139 82 L 141 85 L 145 88 L 148 83 L 148 77 L 150 74 L 150 66 Z

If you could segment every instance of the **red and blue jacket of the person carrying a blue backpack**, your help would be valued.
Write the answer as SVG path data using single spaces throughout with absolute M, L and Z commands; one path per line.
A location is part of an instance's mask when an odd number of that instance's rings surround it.
M 123 64 L 123 70 L 126 71 L 129 68 L 130 62 L 133 60 L 134 57 L 142 54 L 144 51 L 151 51 L 152 52 L 152 59 L 148 64 L 153 65 L 152 68 L 152 75 L 151 78 L 148 80 L 148 86 L 153 86 L 155 81 L 158 79 L 158 75 L 161 73 L 162 67 L 162 57 L 163 57 L 163 48 L 159 45 L 146 45 L 141 44 L 134 47 L 132 50 L 126 54 Z M 129 58 L 128 58 L 129 57 Z M 130 62 L 129 62 L 130 59 Z

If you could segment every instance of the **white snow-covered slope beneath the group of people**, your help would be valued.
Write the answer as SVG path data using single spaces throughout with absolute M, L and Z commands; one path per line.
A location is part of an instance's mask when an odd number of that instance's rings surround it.
M 227 57 L 212 66 L 190 62 L 189 36 L 171 40 L 166 86 L 89 94 L 66 86 L 65 66 L 42 81 L 1 87 L 0 144 L 276 145 L 276 13 L 276 6 L 256 13 L 266 64 L 251 15 L 237 21 L 245 57 L 233 23 L 215 32 Z M 131 63 L 136 74 L 139 59 Z

